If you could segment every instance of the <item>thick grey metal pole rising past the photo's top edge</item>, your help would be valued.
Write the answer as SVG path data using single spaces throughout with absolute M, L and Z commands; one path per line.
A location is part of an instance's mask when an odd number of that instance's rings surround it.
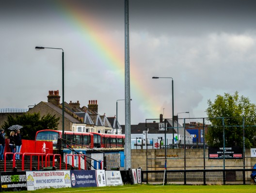
M 125 169 L 131 168 L 129 1 L 125 0 Z

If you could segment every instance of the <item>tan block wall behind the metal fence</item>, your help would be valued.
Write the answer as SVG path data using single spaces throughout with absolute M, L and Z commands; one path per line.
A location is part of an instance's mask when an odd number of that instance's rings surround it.
M 186 152 L 186 153 L 185 153 Z M 185 155 L 185 156 L 184 156 Z M 256 164 L 256 157 L 251 157 L 250 149 L 245 151 L 245 166 L 252 168 Z M 146 157 L 148 158 L 146 160 Z M 186 162 L 184 158 L 186 157 Z M 223 159 L 208 159 L 208 149 L 205 152 L 206 169 L 223 169 Z M 184 169 L 204 169 L 204 150 L 203 149 L 167 149 L 167 168 L 168 170 Z M 163 170 L 165 164 L 165 150 L 151 149 L 147 150 L 131 150 L 131 167 L 142 167 L 146 170 Z M 243 168 L 243 159 L 225 159 L 225 169 Z

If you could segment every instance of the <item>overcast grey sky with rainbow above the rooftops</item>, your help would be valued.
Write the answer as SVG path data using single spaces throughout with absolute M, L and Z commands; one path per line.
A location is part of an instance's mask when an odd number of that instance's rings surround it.
M 207 117 L 224 93 L 256 103 L 255 0 L 129 0 L 131 124 Z M 0 109 L 62 96 L 113 117 L 125 98 L 124 0 L 1 0 Z M 62 98 L 61 98 L 62 101 Z M 125 101 L 118 101 L 125 124 Z

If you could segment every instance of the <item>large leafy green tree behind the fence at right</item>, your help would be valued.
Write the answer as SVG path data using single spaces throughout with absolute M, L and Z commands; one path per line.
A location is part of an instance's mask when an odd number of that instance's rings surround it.
M 223 130 L 225 147 L 243 147 L 243 123 L 245 147 L 256 146 L 256 105 L 248 97 L 224 93 L 217 95 L 214 103 L 208 100 L 206 110 L 211 125 L 205 139 L 211 147 L 223 147 Z

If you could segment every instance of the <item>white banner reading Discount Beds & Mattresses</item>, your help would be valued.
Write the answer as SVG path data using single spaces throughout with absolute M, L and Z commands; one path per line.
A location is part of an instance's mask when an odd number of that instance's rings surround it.
M 44 188 L 71 187 L 70 171 L 27 171 L 28 191 Z

